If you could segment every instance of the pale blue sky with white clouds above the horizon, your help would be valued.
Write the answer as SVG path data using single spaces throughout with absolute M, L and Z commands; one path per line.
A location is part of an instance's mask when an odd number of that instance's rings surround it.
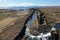
M 60 6 L 60 0 L 0 0 L 0 7 Z

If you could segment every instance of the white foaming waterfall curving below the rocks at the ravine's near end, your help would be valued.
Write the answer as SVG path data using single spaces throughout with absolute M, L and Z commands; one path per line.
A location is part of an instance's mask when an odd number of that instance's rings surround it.
M 29 32 L 29 28 L 26 28 L 26 32 L 25 32 L 25 34 L 26 34 L 26 36 L 27 37 L 29 37 L 28 39 L 30 40 L 40 40 L 40 39 L 42 39 L 42 40 L 48 40 L 48 37 L 49 36 L 51 36 L 51 33 L 49 32 L 49 33 L 47 33 L 47 34 L 43 34 L 43 33 L 40 33 L 40 35 L 38 35 L 38 36 L 34 36 L 34 35 L 31 35 L 30 34 L 30 32 Z M 28 40 L 27 39 L 27 40 Z

